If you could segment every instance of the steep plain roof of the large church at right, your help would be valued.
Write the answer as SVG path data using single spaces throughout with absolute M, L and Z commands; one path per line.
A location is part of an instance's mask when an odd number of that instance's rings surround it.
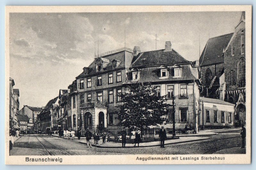
M 210 38 L 200 56 L 200 66 L 224 62 L 223 50 L 227 47 L 233 33 Z

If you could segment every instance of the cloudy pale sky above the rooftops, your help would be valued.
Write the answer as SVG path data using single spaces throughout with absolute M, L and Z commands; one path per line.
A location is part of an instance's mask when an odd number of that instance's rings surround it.
M 59 89 L 68 89 L 95 51 L 123 48 L 124 30 L 128 48 L 164 49 L 171 41 L 195 61 L 199 37 L 202 53 L 209 37 L 234 32 L 240 17 L 241 12 L 11 13 L 10 77 L 20 90 L 20 108 L 45 106 Z

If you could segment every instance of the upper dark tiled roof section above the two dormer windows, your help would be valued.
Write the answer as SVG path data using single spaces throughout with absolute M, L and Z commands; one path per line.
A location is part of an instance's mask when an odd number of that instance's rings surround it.
M 178 64 L 178 63 L 191 63 L 183 58 L 174 49 L 165 51 L 164 49 L 155 51 L 141 52 L 133 58 L 131 67 L 142 67 L 150 65 L 165 65 L 165 64 Z

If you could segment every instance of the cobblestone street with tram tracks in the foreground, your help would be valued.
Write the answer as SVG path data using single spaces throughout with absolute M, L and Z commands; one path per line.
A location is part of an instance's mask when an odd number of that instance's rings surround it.
M 207 136 L 210 139 L 166 145 L 166 148 L 86 148 L 85 144 L 48 135 L 24 135 L 15 141 L 10 155 L 123 155 L 123 154 L 212 154 L 240 147 L 239 130 Z M 120 144 L 121 145 L 121 144 Z

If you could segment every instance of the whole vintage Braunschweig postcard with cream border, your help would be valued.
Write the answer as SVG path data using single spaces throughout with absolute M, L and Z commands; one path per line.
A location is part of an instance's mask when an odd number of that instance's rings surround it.
M 252 6 L 5 18 L 6 164 L 251 163 Z

